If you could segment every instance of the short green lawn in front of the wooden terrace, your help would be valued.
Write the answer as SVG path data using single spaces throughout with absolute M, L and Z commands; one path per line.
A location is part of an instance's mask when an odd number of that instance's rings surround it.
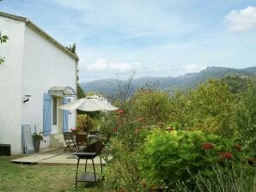
M 77 183 L 76 165 L 20 165 L 11 164 L 16 157 L 0 157 L 0 191 L 88 191 L 104 190 L 104 183 Z M 89 167 L 88 169 L 92 169 Z M 82 171 L 82 167 L 80 168 Z M 100 166 L 96 170 L 101 172 Z

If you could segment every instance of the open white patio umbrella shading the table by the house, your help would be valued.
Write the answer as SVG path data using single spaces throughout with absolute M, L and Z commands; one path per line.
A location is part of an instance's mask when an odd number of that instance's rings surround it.
M 76 99 L 68 104 L 58 106 L 62 110 L 81 110 L 81 111 L 115 111 L 119 108 L 111 105 L 100 96 L 94 95 L 82 99 Z

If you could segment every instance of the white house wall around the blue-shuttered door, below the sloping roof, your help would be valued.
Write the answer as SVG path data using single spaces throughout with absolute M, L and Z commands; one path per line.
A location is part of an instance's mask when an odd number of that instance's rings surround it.
M 54 86 L 69 86 L 76 90 L 76 61 L 46 40 L 34 28 L 26 26 L 22 68 L 22 96 L 31 95 L 21 105 L 21 123 L 36 124 L 43 130 L 43 95 Z M 59 110 L 62 112 L 61 110 Z M 70 127 L 75 126 L 75 113 L 69 115 Z M 50 136 L 41 147 L 49 147 Z

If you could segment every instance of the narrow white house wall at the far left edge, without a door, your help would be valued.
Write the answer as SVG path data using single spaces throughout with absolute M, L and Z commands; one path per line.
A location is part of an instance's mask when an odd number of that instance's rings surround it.
M 0 31 L 9 36 L 0 45 L 0 144 L 10 144 L 11 153 L 21 152 L 21 70 L 25 23 L 0 16 Z

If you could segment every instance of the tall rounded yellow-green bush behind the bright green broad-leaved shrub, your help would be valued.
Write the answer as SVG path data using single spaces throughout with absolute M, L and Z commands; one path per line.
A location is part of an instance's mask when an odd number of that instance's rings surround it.
M 223 81 L 210 80 L 188 93 L 177 93 L 171 101 L 171 120 L 183 129 L 233 137 L 235 97 Z

